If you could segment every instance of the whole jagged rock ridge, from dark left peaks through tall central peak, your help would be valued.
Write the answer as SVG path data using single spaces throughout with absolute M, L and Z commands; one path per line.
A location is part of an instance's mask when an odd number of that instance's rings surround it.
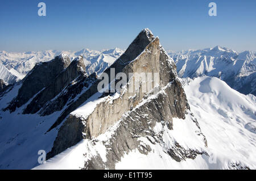
M 134 150 L 147 155 L 160 149 L 176 162 L 208 155 L 207 140 L 190 111 L 174 60 L 150 30 L 141 31 L 102 73 L 108 75 L 109 82 L 102 89 L 118 84 L 121 73 L 124 82 L 120 89 L 100 91 L 102 79 L 97 73 L 86 73 L 82 56 L 70 61 L 61 54 L 36 64 L 22 81 L 0 96 L 17 90 L 4 111 L 27 116 L 36 113 L 43 117 L 40 124 L 49 119 L 44 134 L 56 133 L 56 138 L 48 143 L 53 145 L 47 159 L 81 140 L 88 141 L 90 147 L 84 150 L 81 169 L 115 169 L 122 157 Z M 146 79 L 137 79 L 143 74 Z M 172 135 L 174 120 L 189 128 L 189 137 L 198 141 L 197 146 L 176 140 Z M 103 156 L 93 151 L 98 144 L 105 150 Z

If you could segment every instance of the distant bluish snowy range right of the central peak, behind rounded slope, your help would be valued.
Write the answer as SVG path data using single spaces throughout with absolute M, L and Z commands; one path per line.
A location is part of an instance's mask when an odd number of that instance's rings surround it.
M 179 77 L 218 77 L 243 94 L 256 95 L 256 53 L 242 53 L 222 47 L 169 53 Z

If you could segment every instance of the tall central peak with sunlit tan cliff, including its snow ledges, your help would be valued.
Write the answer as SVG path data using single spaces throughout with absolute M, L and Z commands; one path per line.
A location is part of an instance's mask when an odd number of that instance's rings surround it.
M 150 30 L 143 30 L 110 68 L 115 68 L 115 74 L 123 72 L 127 77 L 129 73 L 158 73 L 158 76 L 140 81 L 139 87 L 135 87 L 133 75 L 121 90 L 113 94 L 100 94 L 96 90 L 90 96 L 87 94 L 89 99 L 85 99 L 82 106 L 71 112 L 61 125 L 47 158 L 82 139 L 92 143 L 92 148 L 85 150 L 84 169 L 115 169 L 122 156 L 132 150 L 138 149 L 142 154 L 153 151 L 154 146 L 150 144 L 160 146 L 170 159 L 177 162 L 186 158 L 194 159 L 197 154 L 204 153 L 206 139 L 189 111 L 174 61 L 159 44 L 158 37 L 154 37 Z M 110 74 L 110 69 L 105 73 Z M 150 89 L 143 91 L 143 86 L 148 84 L 151 84 Z M 134 91 L 128 91 L 130 88 Z M 192 137 L 196 137 L 200 143 L 198 148 L 184 148 L 182 143 L 172 138 L 173 119 L 191 125 Z M 163 134 L 170 138 L 171 144 L 168 142 L 170 140 L 164 140 Z M 100 154 L 90 156 L 93 145 L 97 145 L 95 142 L 104 145 L 104 158 Z

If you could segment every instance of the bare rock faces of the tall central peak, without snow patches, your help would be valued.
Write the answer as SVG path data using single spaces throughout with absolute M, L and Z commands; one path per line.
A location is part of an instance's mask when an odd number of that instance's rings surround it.
M 102 95 L 102 98 L 106 99 L 98 103 L 89 116 L 82 117 L 73 113 L 69 114 L 97 92 L 98 81 L 96 81 L 88 91 L 64 111 L 61 119 L 59 117 L 59 120 L 52 126 L 55 128 L 67 117 L 59 129 L 53 148 L 48 153 L 47 158 L 51 158 L 77 144 L 82 138 L 89 140 L 97 138 L 120 121 L 113 137 L 105 145 L 109 150 L 106 155 L 107 161 L 102 161 L 98 155 L 86 161 L 84 166 L 84 169 L 115 169 L 115 163 L 120 161 L 124 153 L 139 147 L 138 138 L 140 137 L 152 137 L 151 141 L 154 140 L 153 142 L 158 142 L 164 147 L 162 136 L 151 129 L 157 123 L 166 125 L 171 130 L 172 118 L 185 119 L 188 116 L 189 105 L 183 87 L 177 79 L 176 66 L 160 46 L 158 37 L 155 38 L 150 31 L 144 30 L 139 33 L 124 54 L 110 68 L 115 68 L 115 73 L 122 71 L 126 75 L 128 73 L 159 72 L 160 90 L 158 93 L 154 93 L 154 91 L 143 92 L 141 87 L 139 92 L 127 92 L 131 81 L 133 81 L 131 78 L 126 89 L 122 89 L 119 97 L 113 99 L 111 103 L 108 102 L 110 98 L 108 94 Z M 131 57 L 133 59 L 130 59 Z M 107 69 L 105 72 L 110 73 L 110 70 Z M 154 79 L 154 81 L 156 80 Z M 197 121 L 193 119 L 193 122 L 197 127 L 198 135 L 203 137 L 202 142 L 206 145 L 206 139 L 201 133 Z M 82 133 L 79 133 L 80 131 Z M 67 135 L 72 135 L 72 137 Z M 144 146 L 140 151 L 147 154 L 151 149 Z M 176 161 L 185 158 L 194 159 L 197 154 L 203 154 L 198 150 L 186 150 L 179 143 L 176 143 L 173 148 L 168 148 L 167 152 Z

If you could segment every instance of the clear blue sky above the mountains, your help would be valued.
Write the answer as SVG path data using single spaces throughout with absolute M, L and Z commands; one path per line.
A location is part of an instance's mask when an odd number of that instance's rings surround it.
M 38 16 L 39 2 L 47 16 Z M 143 28 L 170 50 L 256 50 L 255 19 L 255 0 L 1 0 L 0 50 L 126 49 Z

